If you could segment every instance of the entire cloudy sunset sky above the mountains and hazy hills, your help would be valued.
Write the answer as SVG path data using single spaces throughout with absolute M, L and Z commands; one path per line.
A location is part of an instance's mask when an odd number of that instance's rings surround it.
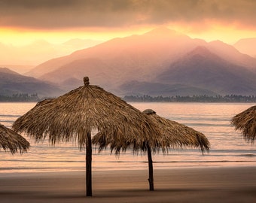
M 191 38 L 256 37 L 254 0 L 0 0 L 0 42 L 106 41 L 166 26 Z

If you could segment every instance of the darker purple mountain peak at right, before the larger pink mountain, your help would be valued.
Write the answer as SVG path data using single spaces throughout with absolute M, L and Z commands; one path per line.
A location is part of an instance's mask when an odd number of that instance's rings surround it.
M 182 83 L 202 89 L 215 89 L 219 94 L 255 95 L 256 73 L 232 64 L 197 47 L 157 76 L 162 83 Z

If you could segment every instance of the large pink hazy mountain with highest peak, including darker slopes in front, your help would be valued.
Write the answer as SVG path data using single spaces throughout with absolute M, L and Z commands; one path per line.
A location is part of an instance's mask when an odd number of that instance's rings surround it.
M 162 27 L 50 59 L 26 76 L 56 92 L 81 86 L 88 76 L 91 84 L 120 96 L 255 95 L 256 59 L 221 41 Z

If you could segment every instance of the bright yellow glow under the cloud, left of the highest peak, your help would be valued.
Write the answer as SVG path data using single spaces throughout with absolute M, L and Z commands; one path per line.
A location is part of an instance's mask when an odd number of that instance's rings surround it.
M 72 38 L 108 41 L 134 34 L 148 32 L 148 28 L 138 29 L 76 29 L 76 30 L 29 30 L 0 28 L 1 42 L 14 46 L 31 44 L 33 41 L 45 40 L 52 44 L 62 44 Z

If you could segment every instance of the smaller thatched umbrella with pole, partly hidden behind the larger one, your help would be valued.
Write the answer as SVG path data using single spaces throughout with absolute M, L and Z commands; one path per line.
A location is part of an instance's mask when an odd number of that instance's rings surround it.
M 158 131 L 157 148 L 155 146 L 151 146 L 151 142 L 145 142 L 141 145 L 141 150 L 143 152 L 148 152 L 149 189 L 154 190 L 153 161 L 151 156 L 152 147 L 154 147 L 154 153 L 159 150 L 162 150 L 163 153 L 168 153 L 168 148 L 175 149 L 182 147 L 198 147 L 203 152 L 205 150 L 209 150 L 209 141 L 203 133 L 197 132 L 196 130 L 175 121 L 159 117 L 156 112 L 151 109 L 147 109 L 143 111 L 143 113 L 147 114 L 148 119 L 151 120 L 154 128 L 157 128 Z M 103 137 L 103 139 L 101 137 Z M 154 138 L 154 135 L 151 135 L 151 138 Z M 104 134 L 101 135 L 101 133 L 99 133 L 94 136 L 93 144 L 99 145 L 99 151 L 107 147 L 109 144 L 111 145 L 111 150 L 117 149 L 116 153 L 119 153 L 119 149 L 118 147 L 115 147 L 114 141 L 111 141 L 110 138 L 106 138 Z M 130 144 L 126 143 L 126 145 L 129 146 Z

